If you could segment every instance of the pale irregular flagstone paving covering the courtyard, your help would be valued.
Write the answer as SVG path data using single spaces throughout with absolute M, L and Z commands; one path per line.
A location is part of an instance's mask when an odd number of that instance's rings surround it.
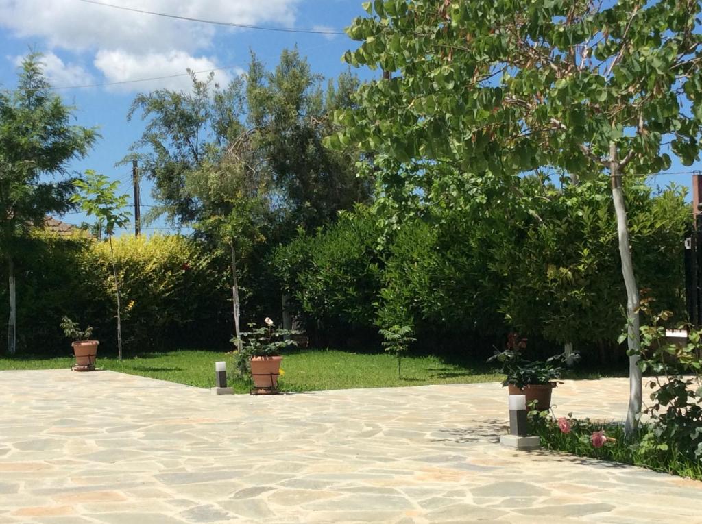
M 612 419 L 625 379 L 567 382 Z M 0 523 L 702 523 L 702 483 L 497 441 L 499 384 L 214 396 L 102 371 L 0 372 Z

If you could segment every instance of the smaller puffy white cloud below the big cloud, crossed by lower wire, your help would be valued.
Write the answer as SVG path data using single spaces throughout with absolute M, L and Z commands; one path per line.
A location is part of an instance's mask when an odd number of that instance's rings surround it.
M 128 82 L 133 80 L 183 75 L 185 69 L 194 72 L 217 69 L 218 65 L 213 58 L 195 57 L 184 51 L 170 51 L 168 53 L 135 54 L 128 51 L 98 51 L 95 56 L 95 67 L 105 75 L 105 83 Z M 225 85 L 232 78 L 232 74 L 241 74 L 241 69 L 229 69 L 215 72 L 215 81 Z M 206 73 L 199 74 L 204 78 Z M 191 81 L 189 76 L 174 76 L 148 82 L 126 83 L 119 86 L 110 86 L 110 90 L 121 92 L 132 90 L 154 90 L 168 88 L 174 90 L 189 90 Z

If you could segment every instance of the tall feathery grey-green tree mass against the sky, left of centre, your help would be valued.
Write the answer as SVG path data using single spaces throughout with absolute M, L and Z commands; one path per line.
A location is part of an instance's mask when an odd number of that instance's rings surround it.
M 331 112 L 348 107 L 359 85 L 347 73 L 329 81 L 314 74 L 298 51 L 283 51 L 274 72 L 251 57 L 249 72 L 220 87 L 213 75 L 192 74 L 190 92 L 167 89 L 143 93 L 128 119 L 141 113 L 145 133 L 124 163 L 139 159 L 153 180 L 159 206 L 150 213 L 178 224 L 197 224 L 209 211 L 190 177 L 235 163 L 246 170 L 246 184 L 274 194 L 270 207 L 288 233 L 335 220 L 339 210 L 366 201 L 370 184 L 356 177 L 357 151 L 331 152 L 322 138 L 335 129 Z M 272 216 L 272 215 L 271 215 Z

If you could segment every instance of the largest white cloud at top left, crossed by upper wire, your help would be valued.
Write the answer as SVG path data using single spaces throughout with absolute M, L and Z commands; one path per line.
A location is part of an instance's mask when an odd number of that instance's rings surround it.
M 119 0 L 116 5 L 204 20 L 293 25 L 300 0 Z M 197 51 L 211 45 L 216 28 L 78 0 L 0 0 L 0 26 L 16 36 L 45 38 L 52 47 L 124 49 L 132 53 Z

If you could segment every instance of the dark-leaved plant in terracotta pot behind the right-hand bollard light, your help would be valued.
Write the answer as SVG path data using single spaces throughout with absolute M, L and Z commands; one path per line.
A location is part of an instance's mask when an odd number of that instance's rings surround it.
M 524 349 L 527 349 L 527 339 L 510 333 L 505 350 L 495 351 L 488 362 L 497 362 L 501 372 L 507 375 L 503 386 L 508 387 L 510 395 L 525 395 L 527 406 L 536 401 L 536 410 L 548 410 L 553 388 L 563 372 L 556 363 L 562 362 L 564 355 L 552 356 L 545 361 L 530 361 L 524 358 Z

